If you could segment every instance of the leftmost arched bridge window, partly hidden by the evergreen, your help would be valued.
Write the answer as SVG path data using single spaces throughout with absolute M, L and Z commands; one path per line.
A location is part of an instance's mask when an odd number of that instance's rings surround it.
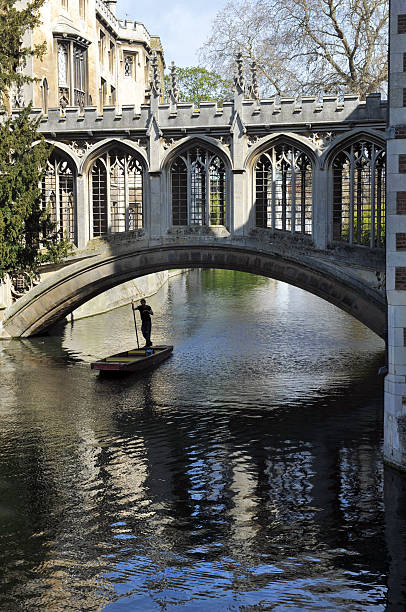
M 48 209 L 61 238 L 76 243 L 76 193 L 73 165 L 58 153 L 47 162 L 42 179 L 42 205 Z

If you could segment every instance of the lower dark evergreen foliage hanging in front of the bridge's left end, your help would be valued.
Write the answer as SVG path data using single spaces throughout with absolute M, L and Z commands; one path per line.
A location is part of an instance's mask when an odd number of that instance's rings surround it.
M 31 107 L 0 125 L 0 277 L 35 273 L 71 246 L 41 207 L 41 182 L 49 145 L 39 137 Z

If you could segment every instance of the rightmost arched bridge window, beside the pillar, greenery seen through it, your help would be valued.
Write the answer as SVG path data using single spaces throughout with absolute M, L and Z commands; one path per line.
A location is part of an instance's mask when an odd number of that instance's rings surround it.
M 385 151 L 357 142 L 333 161 L 333 240 L 385 246 Z

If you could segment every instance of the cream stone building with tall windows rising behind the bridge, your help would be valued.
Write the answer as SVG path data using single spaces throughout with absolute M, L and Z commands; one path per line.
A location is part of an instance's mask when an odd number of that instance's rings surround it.
M 38 81 L 14 90 L 11 106 L 32 101 L 49 108 L 122 106 L 140 108 L 149 99 L 152 52 L 163 77 L 159 37 L 137 21 L 116 17 L 116 0 L 47 0 L 42 26 L 26 35 L 28 46 L 46 42 L 42 59 L 32 58 L 26 71 Z

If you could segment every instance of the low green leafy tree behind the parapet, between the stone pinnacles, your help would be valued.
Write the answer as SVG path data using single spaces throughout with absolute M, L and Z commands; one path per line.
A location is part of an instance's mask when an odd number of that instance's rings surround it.
M 209 72 L 200 66 L 177 68 L 176 71 L 181 102 L 193 102 L 199 106 L 202 101 L 210 101 L 221 105 L 233 95 L 231 80 L 223 79 L 216 72 Z M 166 91 L 170 86 L 170 77 L 166 75 Z

